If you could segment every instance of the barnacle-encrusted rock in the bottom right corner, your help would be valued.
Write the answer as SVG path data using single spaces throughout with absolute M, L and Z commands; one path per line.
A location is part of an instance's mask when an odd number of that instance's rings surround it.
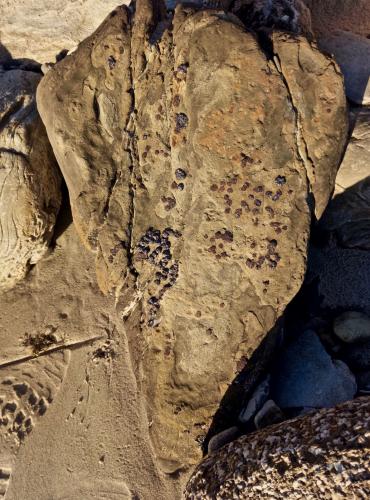
M 249 434 L 206 458 L 188 500 L 367 498 L 370 398 Z

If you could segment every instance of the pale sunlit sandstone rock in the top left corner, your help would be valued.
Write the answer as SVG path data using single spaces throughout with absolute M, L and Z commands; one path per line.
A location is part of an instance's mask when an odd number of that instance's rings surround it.
M 0 42 L 13 58 L 54 61 L 130 0 L 0 0 Z

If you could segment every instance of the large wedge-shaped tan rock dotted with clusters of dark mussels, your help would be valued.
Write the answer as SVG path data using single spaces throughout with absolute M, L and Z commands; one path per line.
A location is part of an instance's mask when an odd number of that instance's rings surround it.
M 178 6 L 167 24 L 149 1 L 117 9 L 38 103 L 173 472 L 199 459 L 228 383 L 299 289 L 347 124 L 338 70 L 306 39 L 275 35 L 274 61 L 225 14 Z

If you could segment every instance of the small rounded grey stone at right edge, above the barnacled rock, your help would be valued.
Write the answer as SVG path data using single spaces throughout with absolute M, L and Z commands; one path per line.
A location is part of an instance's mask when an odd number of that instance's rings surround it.
M 370 318 L 357 311 L 347 311 L 335 318 L 334 333 L 350 344 L 370 340 Z

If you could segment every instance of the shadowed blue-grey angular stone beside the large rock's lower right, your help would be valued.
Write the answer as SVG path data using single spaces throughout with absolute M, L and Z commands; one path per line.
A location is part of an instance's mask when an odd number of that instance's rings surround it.
M 329 408 L 356 394 L 348 367 L 332 360 L 312 330 L 299 335 L 280 356 L 271 377 L 271 395 L 280 408 Z

